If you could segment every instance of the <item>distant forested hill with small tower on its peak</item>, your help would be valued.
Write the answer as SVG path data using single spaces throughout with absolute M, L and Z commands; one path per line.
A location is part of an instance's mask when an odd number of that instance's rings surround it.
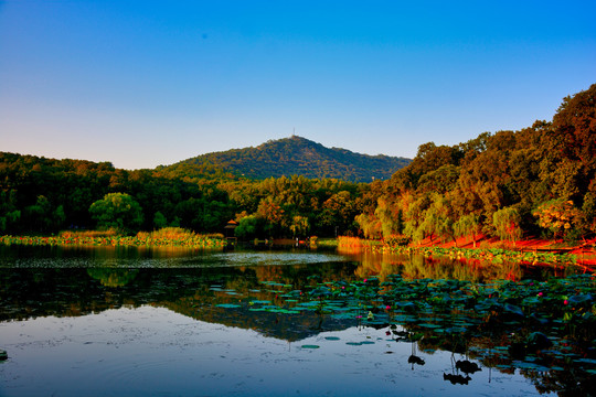
M 204 176 L 217 169 L 236 175 L 263 180 L 269 176 L 301 175 L 308 179 L 332 178 L 349 182 L 386 180 L 411 160 L 389 155 L 368 155 L 345 149 L 326 148 L 292 136 L 269 140 L 256 148 L 233 149 L 202 154 L 158 171 L 170 176 Z

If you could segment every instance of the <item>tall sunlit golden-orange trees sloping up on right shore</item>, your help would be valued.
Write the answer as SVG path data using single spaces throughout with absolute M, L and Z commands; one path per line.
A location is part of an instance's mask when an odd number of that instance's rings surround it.
M 376 205 L 356 217 L 368 237 L 581 240 L 596 233 L 596 84 L 563 99 L 552 121 L 422 144 Z

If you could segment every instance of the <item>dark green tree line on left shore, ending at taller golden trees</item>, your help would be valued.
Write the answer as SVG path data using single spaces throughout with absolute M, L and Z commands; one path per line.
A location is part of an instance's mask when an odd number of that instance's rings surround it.
M 0 152 L 0 233 L 99 227 L 132 234 L 167 226 L 221 233 L 230 219 L 247 238 L 354 233 L 358 198 L 366 189 L 304 176 L 179 178 Z

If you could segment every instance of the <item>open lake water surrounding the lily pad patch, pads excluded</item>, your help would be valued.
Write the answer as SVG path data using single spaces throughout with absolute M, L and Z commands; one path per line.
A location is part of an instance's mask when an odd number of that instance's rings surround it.
M 487 281 L 547 279 L 566 276 L 564 270 L 326 250 L 19 246 L 0 246 L 0 348 L 9 355 L 0 362 L 0 396 L 593 390 L 593 379 L 586 378 L 592 369 L 511 360 L 502 335 L 470 340 L 462 347 L 426 334 L 413 341 L 412 319 L 390 328 L 306 307 L 279 309 L 281 299 L 294 301 L 288 291 L 299 297 L 315 278 L 352 281 L 401 273 Z M 480 371 L 464 373 L 458 361 Z

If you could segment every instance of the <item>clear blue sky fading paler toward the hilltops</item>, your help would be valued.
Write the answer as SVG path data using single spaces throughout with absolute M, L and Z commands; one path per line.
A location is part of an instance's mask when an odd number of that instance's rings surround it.
M 596 83 L 596 1 L 0 0 L 0 151 L 153 168 L 296 135 L 414 157 Z

